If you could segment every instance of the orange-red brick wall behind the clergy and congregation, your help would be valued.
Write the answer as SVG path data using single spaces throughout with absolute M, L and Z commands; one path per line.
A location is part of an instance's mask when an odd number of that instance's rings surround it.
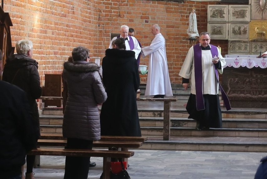
M 154 38 L 151 26 L 161 27 L 166 39 L 166 51 L 171 83 L 181 84 L 178 73 L 190 48 L 186 29 L 193 5 L 196 8 L 199 33 L 207 30 L 207 5 L 216 2 L 145 1 L 145 0 L 6 0 L 4 11 L 13 22 L 13 46 L 26 38 L 34 43 L 34 59 L 39 62 L 39 74 L 60 74 L 63 62 L 79 45 L 90 49 L 90 56 L 105 56 L 111 33 L 119 33 L 121 25 L 135 29 L 135 37 L 143 46 Z M 149 23 L 145 23 L 148 20 Z M 227 40 L 212 40 L 227 54 Z M 140 64 L 148 65 L 148 58 Z M 141 76 L 142 82 L 146 76 Z

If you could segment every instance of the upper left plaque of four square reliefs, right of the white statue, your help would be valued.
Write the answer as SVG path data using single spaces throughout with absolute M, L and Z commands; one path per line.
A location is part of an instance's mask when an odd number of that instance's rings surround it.
M 208 5 L 208 22 L 209 21 L 228 21 L 228 5 Z

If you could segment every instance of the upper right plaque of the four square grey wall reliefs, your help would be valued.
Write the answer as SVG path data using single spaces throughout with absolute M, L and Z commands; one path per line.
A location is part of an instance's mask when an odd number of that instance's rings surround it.
M 229 21 L 249 22 L 250 5 L 229 5 Z

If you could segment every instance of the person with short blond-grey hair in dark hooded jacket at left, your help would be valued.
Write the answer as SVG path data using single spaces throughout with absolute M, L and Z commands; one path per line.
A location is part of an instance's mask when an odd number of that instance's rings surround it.
M 27 94 L 31 112 L 33 113 L 35 125 L 39 131 L 39 111 L 36 99 L 42 95 L 38 63 L 33 59 L 33 43 L 30 40 L 19 40 L 16 43 L 16 52 L 6 60 L 3 70 L 3 80 L 14 84 L 24 90 Z M 36 144 L 37 146 L 37 140 Z M 34 179 L 33 166 L 35 156 L 27 155 L 26 179 Z M 24 173 L 24 167 L 21 167 Z M 23 176 L 24 177 L 24 176 Z

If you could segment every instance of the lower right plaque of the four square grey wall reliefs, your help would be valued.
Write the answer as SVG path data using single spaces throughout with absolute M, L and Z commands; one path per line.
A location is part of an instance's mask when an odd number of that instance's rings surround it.
M 249 40 L 249 24 L 229 23 L 228 40 Z

